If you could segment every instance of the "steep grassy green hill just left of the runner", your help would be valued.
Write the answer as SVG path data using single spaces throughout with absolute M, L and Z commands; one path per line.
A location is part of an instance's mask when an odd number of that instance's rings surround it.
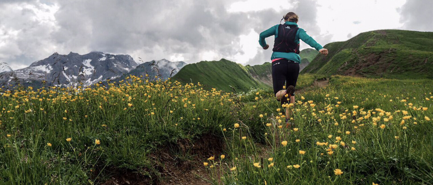
M 220 61 L 201 61 L 195 64 L 187 64 L 174 75 L 173 80 L 183 83 L 198 83 L 204 89 L 218 88 L 233 92 L 248 91 L 250 88 L 269 88 L 269 74 L 271 64 L 265 63 L 255 66 L 242 66 L 226 59 Z M 265 80 L 260 80 L 265 79 Z M 270 78 L 271 79 L 271 78 Z M 267 81 L 267 82 L 266 82 Z

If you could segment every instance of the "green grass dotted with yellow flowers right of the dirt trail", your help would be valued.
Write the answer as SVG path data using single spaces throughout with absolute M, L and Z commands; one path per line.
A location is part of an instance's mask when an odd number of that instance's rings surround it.
M 221 184 L 432 184 L 433 126 L 429 118 L 433 116 L 433 88 L 427 86 L 432 82 L 334 76 L 329 86 L 300 94 L 304 99 L 293 107 L 293 127 L 286 127 L 275 100 L 259 99 L 256 108 L 261 111 L 255 117 L 267 128 L 263 135 L 272 146 L 270 153 L 232 152 L 226 155 L 229 159 L 210 162 L 224 169 Z M 231 129 L 237 133 L 244 127 Z M 245 136 L 243 142 L 229 140 L 227 145 L 256 148 Z M 281 146 L 282 141 L 287 146 Z M 328 144 L 317 142 L 336 144 L 336 148 L 327 150 Z M 233 167 L 236 169 L 229 170 Z M 335 175 L 336 169 L 343 174 Z

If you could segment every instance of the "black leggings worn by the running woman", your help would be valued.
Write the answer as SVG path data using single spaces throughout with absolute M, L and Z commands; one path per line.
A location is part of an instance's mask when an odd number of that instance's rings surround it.
M 286 87 L 296 86 L 299 75 L 299 64 L 287 59 L 279 59 L 272 62 L 272 83 L 274 85 L 274 94 L 283 90 L 284 83 Z M 291 96 L 294 96 L 292 92 Z

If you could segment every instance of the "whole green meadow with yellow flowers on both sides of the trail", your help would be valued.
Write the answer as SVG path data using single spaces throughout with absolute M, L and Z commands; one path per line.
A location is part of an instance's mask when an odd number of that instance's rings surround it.
M 215 185 L 433 183 L 432 80 L 317 78 L 300 76 L 288 123 L 269 89 L 129 77 L 3 90 L 0 184 L 158 184 L 191 161 Z

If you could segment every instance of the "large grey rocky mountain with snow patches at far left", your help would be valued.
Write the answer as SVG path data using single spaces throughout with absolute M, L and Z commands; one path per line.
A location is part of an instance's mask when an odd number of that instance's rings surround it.
M 2 83 L 19 83 L 25 86 L 41 86 L 45 80 L 48 86 L 88 86 L 106 79 L 120 77 L 138 64 L 129 55 L 90 52 L 88 54 L 52 54 L 33 62 L 29 67 L 1 73 Z

